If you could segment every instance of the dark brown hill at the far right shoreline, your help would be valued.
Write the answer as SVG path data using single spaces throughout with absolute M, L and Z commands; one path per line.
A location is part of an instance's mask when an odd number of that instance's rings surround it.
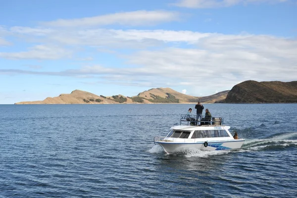
M 297 81 L 257 82 L 245 81 L 235 85 L 224 103 L 295 103 L 297 102 Z

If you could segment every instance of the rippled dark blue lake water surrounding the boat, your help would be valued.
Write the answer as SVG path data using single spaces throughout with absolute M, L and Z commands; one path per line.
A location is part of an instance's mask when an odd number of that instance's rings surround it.
M 190 107 L 0 105 L 0 197 L 297 197 L 297 104 L 204 104 L 243 148 L 167 155 Z

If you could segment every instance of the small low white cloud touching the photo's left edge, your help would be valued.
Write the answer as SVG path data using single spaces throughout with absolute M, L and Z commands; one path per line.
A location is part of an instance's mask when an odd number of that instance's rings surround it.
M 70 57 L 71 52 L 59 47 L 38 45 L 28 51 L 0 52 L 0 57 L 7 59 L 59 59 Z

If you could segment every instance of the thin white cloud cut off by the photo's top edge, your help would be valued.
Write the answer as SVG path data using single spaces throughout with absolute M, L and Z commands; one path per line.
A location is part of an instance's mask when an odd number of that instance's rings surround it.
M 180 0 L 177 3 L 173 3 L 173 5 L 188 8 L 213 8 L 230 7 L 240 3 L 281 3 L 285 1 L 287 0 Z

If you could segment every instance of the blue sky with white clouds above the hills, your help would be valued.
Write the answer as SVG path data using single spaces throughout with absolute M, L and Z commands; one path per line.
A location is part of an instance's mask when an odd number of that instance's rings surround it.
M 0 0 L 0 104 L 297 80 L 297 0 Z

